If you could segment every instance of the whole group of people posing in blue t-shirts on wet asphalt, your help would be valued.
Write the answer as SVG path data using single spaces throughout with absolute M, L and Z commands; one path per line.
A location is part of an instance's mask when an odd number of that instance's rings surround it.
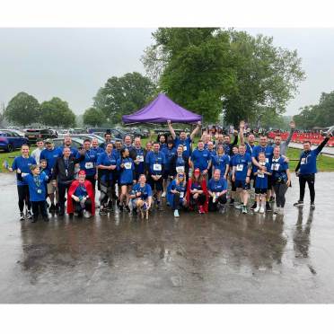
M 30 147 L 22 145 L 22 155 L 8 167 L 16 171 L 20 219 L 36 222 L 41 215 L 48 221 L 48 212 L 88 218 L 95 214 L 95 207 L 100 207 L 100 215 L 108 215 L 115 204 L 119 211 L 148 218 L 153 206 L 163 210 L 164 197 L 175 217 L 181 210 L 224 214 L 227 204 L 247 214 L 251 187 L 255 189 L 251 206 L 255 213 L 272 211 L 270 202 L 275 198 L 274 213 L 284 214 L 286 190 L 291 187 L 286 149 L 294 122 L 286 142 L 277 134 L 274 143 L 269 144 L 267 136 L 259 136 L 259 145 L 255 145 L 255 136 L 245 131 L 242 121 L 232 136 L 204 131 L 196 147 L 192 146 L 200 122 L 189 136 L 184 131 L 178 136 L 171 121 L 167 125 L 169 134 L 158 136 L 145 147 L 140 137 L 133 140 L 125 136 L 112 142 L 109 132 L 105 143 L 85 139 L 80 150 L 72 145 L 70 136 L 65 136 L 64 145 L 58 147 L 50 139 L 39 141 L 31 155 Z M 311 208 L 315 207 L 316 158 L 330 136 L 328 133 L 314 150 L 310 142 L 303 143 L 295 170 L 300 198 L 294 206 L 303 206 L 307 183 Z M 95 203 L 97 190 L 100 197 Z

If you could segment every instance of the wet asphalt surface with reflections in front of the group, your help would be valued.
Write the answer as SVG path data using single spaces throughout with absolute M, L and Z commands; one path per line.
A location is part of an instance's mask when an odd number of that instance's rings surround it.
M 286 215 L 154 212 L 19 222 L 13 175 L 0 174 L 0 303 L 334 303 L 334 173 L 316 209 Z

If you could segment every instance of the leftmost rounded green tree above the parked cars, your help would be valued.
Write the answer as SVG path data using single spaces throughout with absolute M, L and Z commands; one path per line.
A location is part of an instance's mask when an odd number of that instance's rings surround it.
M 40 103 L 32 95 L 19 92 L 9 101 L 4 112 L 5 118 L 23 127 L 40 120 Z

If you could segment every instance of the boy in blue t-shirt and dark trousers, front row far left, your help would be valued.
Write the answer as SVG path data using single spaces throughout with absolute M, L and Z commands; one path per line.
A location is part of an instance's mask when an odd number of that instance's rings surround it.
M 24 174 L 23 180 L 27 182 L 29 188 L 29 195 L 32 207 L 32 223 L 37 222 L 39 213 L 45 222 L 48 222 L 48 212 L 45 198 L 46 184 L 48 176 L 44 171 L 40 172 L 40 167 L 37 164 L 31 164 L 31 173 Z

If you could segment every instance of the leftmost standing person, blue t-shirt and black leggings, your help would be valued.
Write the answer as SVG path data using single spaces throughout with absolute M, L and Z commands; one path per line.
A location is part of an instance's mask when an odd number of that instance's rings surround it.
M 31 215 L 31 200 L 29 196 L 29 187 L 26 180 L 23 180 L 25 174 L 31 172 L 31 165 L 36 164 L 36 160 L 29 155 L 29 146 L 22 145 L 21 156 L 16 156 L 13 160 L 12 167 L 9 171 L 16 171 L 16 184 L 17 184 L 17 194 L 19 197 L 19 209 L 20 209 L 20 220 L 24 220 L 25 217 L 32 219 Z M 25 206 L 25 215 L 23 213 Z

